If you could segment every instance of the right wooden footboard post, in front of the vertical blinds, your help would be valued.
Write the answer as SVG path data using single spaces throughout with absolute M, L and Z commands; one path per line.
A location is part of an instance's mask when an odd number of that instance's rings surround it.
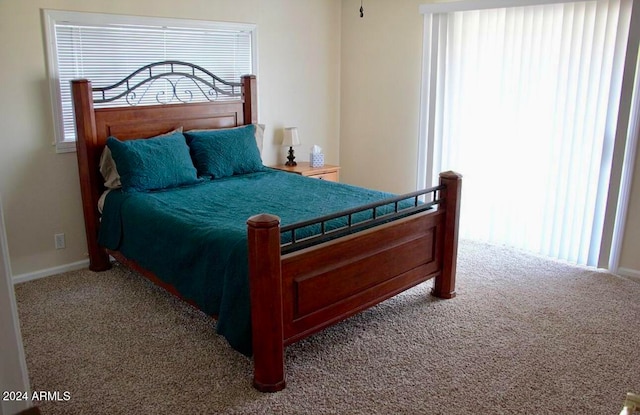
M 444 236 L 442 244 L 442 271 L 436 277 L 432 294 L 439 298 L 456 296 L 456 262 L 458 260 L 458 226 L 460 223 L 460 195 L 462 175 L 447 171 L 440 173 L 440 192 L 444 200 Z

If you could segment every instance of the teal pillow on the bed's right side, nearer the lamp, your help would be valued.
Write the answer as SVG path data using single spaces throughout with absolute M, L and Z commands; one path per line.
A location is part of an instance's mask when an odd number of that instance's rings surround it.
M 187 131 L 193 164 L 200 176 L 219 179 L 264 170 L 255 139 L 256 126 Z

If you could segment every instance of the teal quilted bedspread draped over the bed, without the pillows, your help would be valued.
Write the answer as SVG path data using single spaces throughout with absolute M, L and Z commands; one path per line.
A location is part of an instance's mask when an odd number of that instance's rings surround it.
M 217 315 L 217 332 L 250 356 L 247 219 L 271 213 L 284 226 L 390 196 L 271 169 L 149 193 L 112 191 L 99 243 Z

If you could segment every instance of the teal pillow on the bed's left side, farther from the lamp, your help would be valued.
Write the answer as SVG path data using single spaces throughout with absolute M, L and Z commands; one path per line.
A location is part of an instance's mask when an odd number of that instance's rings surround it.
M 198 172 L 182 133 L 127 141 L 109 137 L 107 147 L 125 192 L 166 189 L 198 181 Z

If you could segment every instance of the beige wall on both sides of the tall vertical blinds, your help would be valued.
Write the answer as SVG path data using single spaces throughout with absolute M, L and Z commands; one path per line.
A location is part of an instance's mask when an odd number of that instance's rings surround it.
M 428 2 L 367 0 L 364 19 L 359 0 L 342 2 L 343 181 L 393 192 L 415 189 L 423 29 L 418 8 Z M 640 273 L 640 160 L 636 164 L 620 266 Z

